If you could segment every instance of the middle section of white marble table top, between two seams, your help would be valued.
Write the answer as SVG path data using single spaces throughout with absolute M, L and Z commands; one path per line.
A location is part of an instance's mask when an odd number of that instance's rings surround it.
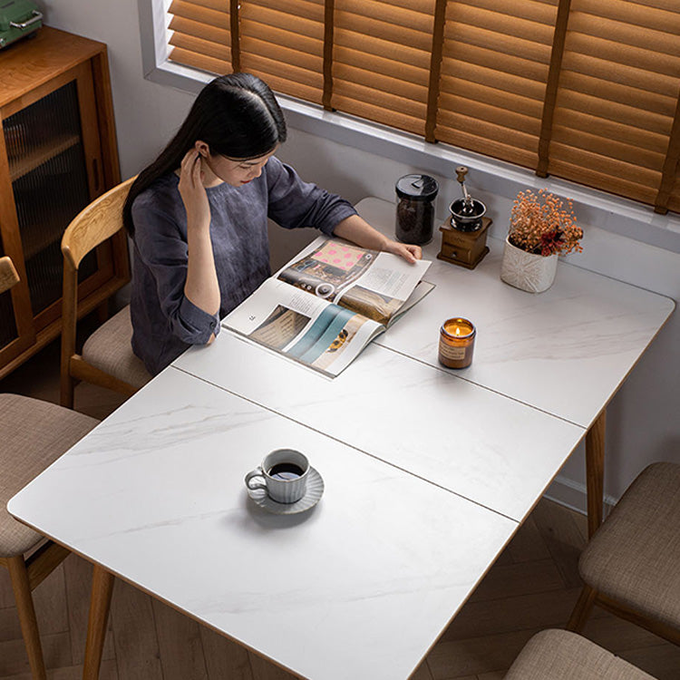
M 173 365 L 513 520 L 585 434 L 376 345 L 330 379 L 223 329 Z

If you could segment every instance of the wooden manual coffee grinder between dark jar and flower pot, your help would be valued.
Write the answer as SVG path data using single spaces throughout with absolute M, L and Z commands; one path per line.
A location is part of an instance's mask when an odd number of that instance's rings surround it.
M 449 206 L 451 218 L 439 228 L 442 232 L 442 250 L 437 258 L 474 269 L 489 252 L 486 246 L 486 232 L 491 219 L 484 217 L 486 206 L 481 200 L 473 199 L 468 193 L 465 186 L 467 173 L 468 169 L 464 165 L 456 168 L 463 198 L 452 202 Z

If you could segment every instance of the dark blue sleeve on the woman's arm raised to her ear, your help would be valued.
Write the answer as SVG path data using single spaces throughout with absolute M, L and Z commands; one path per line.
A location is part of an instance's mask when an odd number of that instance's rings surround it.
M 156 288 L 148 292 L 149 305 L 160 303 L 172 334 L 182 342 L 205 345 L 211 335 L 219 333 L 219 316 L 208 314 L 184 295 L 189 248 L 179 226 L 167 215 L 136 202 L 132 219 L 135 257 L 141 258 Z

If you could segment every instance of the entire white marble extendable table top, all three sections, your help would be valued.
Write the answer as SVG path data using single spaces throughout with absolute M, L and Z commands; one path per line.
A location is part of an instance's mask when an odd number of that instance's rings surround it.
M 385 233 L 393 204 L 357 208 Z M 673 310 L 560 262 L 538 296 L 436 260 L 437 287 L 331 380 L 223 330 L 10 500 L 84 558 L 313 680 L 406 678 Z M 470 368 L 437 362 L 449 316 Z M 243 477 L 308 453 L 314 510 L 282 517 Z

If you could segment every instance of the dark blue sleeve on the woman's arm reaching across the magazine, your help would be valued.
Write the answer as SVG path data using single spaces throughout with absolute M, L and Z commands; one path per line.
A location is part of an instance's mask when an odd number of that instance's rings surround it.
M 300 179 L 276 157 L 267 161 L 268 217 L 281 227 L 312 227 L 333 234 L 343 219 L 356 214 L 347 200 Z

